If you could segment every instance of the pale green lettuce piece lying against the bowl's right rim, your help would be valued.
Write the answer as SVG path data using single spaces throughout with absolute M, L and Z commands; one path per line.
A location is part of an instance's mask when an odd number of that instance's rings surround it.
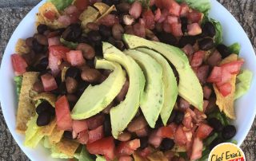
M 243 70 L 237 77 L 238 83 L 236 84 L 236 89 L 234 93 L 234 99 L 238 99 L 239 97 L 246 94 L 246 92 L 250 88 L 250 83 L 253 79 L 253 73 L 250 70 Z

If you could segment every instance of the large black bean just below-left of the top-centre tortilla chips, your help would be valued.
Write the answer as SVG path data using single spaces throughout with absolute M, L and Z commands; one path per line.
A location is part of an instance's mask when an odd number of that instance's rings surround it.
M 66 41 L 78 41 L 82 35 L 82 29 L 79 24 L 71 24 L 62 33 L 62 38 Z

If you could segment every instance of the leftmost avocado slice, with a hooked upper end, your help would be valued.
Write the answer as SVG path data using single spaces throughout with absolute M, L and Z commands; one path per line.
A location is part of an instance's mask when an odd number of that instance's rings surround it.
M 118 96 L 126 81 L 126 73 L 118 63 L 96 58 L 95 67 L 96 69 L 110 69 L 113 72 L 102 84 L 94 86 L 90 84 L 86 88 L 71 112 L 74 120 L 86 119 L 101 112 L 114 100 L 115 96 Z

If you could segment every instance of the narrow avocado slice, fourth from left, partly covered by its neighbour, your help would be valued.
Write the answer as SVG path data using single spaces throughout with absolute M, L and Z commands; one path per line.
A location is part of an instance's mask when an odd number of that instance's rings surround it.
M 150 55 L 150 57 L 153 57 L 160 65 L 162 65 L 164 100 L 160 116 L 162 118 L 162 123 L 166 125 L 178 96 L 178 85 L 173 69 L 170 68 L 168 61 L 166 61 L 160 53 L 146 48 L 138 48 L 137 50 Z

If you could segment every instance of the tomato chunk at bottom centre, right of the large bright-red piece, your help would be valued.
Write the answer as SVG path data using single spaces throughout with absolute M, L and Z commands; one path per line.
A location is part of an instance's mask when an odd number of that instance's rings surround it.
M 122 142 L 117 147 L 117 153 L 119 156 L 122 155 L 132 155 L 138 147 L 140 147 L 140 140 L 133 139 L 131 141 Z

